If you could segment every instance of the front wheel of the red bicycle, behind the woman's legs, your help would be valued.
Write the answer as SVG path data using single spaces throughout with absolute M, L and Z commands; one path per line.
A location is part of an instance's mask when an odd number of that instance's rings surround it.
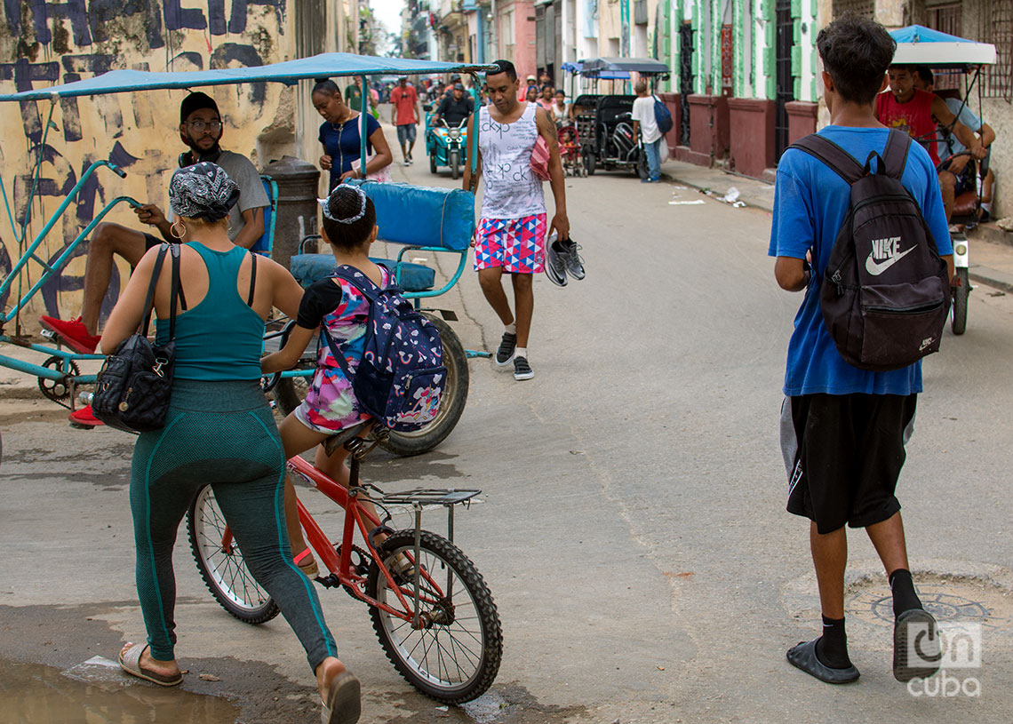
M 186 529 L 197 569 L 223 609 L 247 624 L 262 624 L 278 616 L 278 604 L 253 578 L 238 544 L 227 533 L 225 515 L 210 485 L 190 503 Z

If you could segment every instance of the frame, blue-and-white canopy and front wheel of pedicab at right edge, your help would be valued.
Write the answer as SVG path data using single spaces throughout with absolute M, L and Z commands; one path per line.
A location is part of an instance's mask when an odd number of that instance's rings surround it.
M 969 107 L 968 102 L 971 91 L 978 90 L 978 116 L 983 118 L 982 113 L 982 69 L 984 66 L 995 65 L 996 47 L 989 43 L 978 43 L 968 41 L 956 35 L 949 35 L 939 30 L 932 30 L 922 25 L 909 25 L 890 32 L 897 41 L 897 52 L 893 54 L 893 63 L 904 65 L 924 65 L 940 70 L 959 71 L 964 79 L 964 90 L 961 98 L 962 110 L 964 106 Z M 968 77 L 969 80 L 968 80 Z M 888 91 L 887 91 L 888 92 Z M 955 113 L 959 115 L 959 112 Z M 983 118 L 984 122 L 984 118 Z M 950 129 L 947 129 L 948 131 Z M 938 136 L 938 137 L 937 137 Z M 938 131 L 931 139 L 917 139 L 919 141 L 944 140 Z M 979 171 L 982 165 L 978 166 Z M 984 179 L 982 179 L 984 180 Z M 982 184 L 976 184 L 978 193 L 978 205 L 982 203 Z M 958 312 L 956 301 L 950 308 L 951 324 L 950 328 L 954 334 L 963 334 L 967 323 L 967 298 L 970 294 L 970 287 L 966 280 L 967 268 L 969 266 L 968 251 L 969 245 L 967 237 L 963 232 L 950 233 L 953 242 L 953 266 L 957 274 L 961 274 L 961 286 L 954 290 L 954 295 L 962 296 L 962 312 Z M 962 319 L 960 318 L 962 315 Z

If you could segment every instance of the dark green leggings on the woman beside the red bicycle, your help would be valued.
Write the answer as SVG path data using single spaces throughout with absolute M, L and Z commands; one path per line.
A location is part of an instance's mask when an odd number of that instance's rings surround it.
M 278 602 L 315 670 L 337 647 L 313 584 L 292 562 L 282 440 L 259 385 L 246 381 L 177 379 L 165 426 L 142 434 L 134 448 L 137 592 L 151 655 L 174 658 L 172 547 L 179 521 L 207 483 L 250 572 Z

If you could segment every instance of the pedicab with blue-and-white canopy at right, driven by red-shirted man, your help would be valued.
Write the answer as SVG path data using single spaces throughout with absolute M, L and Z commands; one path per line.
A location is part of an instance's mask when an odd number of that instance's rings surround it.
M 977 92 L 977 115 L 982 115 L 982 71 L 996 63 L 996 47 L 988 43 L 977 43 L 956 35 L 949 35 L 922 25 L 910 25 L 890 32 L 897 41 L 893 63 L 931 68 L 936 76 L 936 93 L 944 97 L 955 97 L 959 106 L 954 115 L 959 116 L 964 107 L 975 110 L 971 102 Z M 942 85 L 950 88 L 939 89 Z M 945 142 L 950 129 L 939 129 L 931 139 L 918 141 L 929 143 Z M 969 155 L 968 151 L 957 155 Z M 958 284 L 953 288 L 953 305 L 950 311 L 950 329 L 953 334 L 963 334 L 967 328 L 967 300 L 971 287 L 968 276 L 969 244 L 966 229 L 978 224 L 982 209 L 982 191 L 989 172 L 989 157 L 982 161 L 970 160 L 973 164 L 976 188 L 964 191 L 956 197 L 953 216 L 950 219 L 950 238 L 953 242 L 953 266 Z

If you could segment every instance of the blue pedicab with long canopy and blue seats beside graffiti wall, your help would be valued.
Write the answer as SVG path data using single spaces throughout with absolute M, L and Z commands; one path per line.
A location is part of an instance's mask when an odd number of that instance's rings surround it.
M 59 245 L 59 251 L 49 258 L 40 255 L 45 253 L 45 251 L 41 252 L 41 249 L 47 248 L 43 244 L 47 242 L 54 229 L 58 228 L 58 224 L 62 226 L 61 222 L 68 208 L 92 182 L 93 175 L 104 172 L 101 169 L 107 169 L 120 178 L 127 177 L 127 171 L 112 159 L 94 161 L 84 170 L 77 183 L 69 190 L 40 232 L 29 241 L 30 210 L 32 203 L 36 198 L 41 198 L 42 195 L 40 188 L 42 167 L 48 161 L 44 149 L 47 148 L 50 130 L 55 126 L 53 114 L 59 103 L 82 96 L 190 89 L 214 85 L 255 82 L 278 82 L 294 85 L 300 80 L 321 76 L 331 78 L 358 76 L 362 78 L 364 87 L 369 87 L 370 76 L 475 73 L 485 69 L 484 66 L 458 63 L 328 53 L 265 66 L 208 71 L 113 70 L 86 80 L 0 95 L 0 101 L 20 103 L 50 101 L 48 113 L 41 113 L 41 116 L 46 118 L 46 123 L 42 127 L 41 140 L 29 150 L 29 153 L 34 155 L 34 162 L 30 174 L 27 200 L 23 202 L 25 212 L 19 219 L 15 218 L 15 210 L 12 209 L 13 199 L 8 190 L 12 191 L 13 186 L 8 187 L 3 177 L 0 176 L 0 196 L 3 198 L 7 221 L 14 234 L 19 252 L 18 258 L 13 261 L 6 276 L 0 280 L 0 304 L 4 307 L 2 314 L 0 314 L 0 346 L 15 345 L 37 353 L 40 361 L 27 361 L 10 354 L 0 353 L 0 367 L 36 377 L 38 387 L 47 398 L 71 410 L 75 408 L 78 402 L 78 388 L 93 385 L 96 381 L 96 375 L 81 373 L 80 363 L 101 360 L 104 359 L 104 356 L 75 352 L 65 348 L 58 339 L 47 341 L 31 338 L 25 333 L 22 326 L 22 313 L 27 311 L 28 305 L 40 294 L 59 286 L 60 276 L 67 264 L 82 253 L 81 245 L 110 211 L 122 204 L 135 208 L 141 206 L 137 199 L 130 195 L 115 195 L 94 214 L 90 222 L 73 239 Z M 363 106 L 361 152 L 365 159 L 365 129 L 368 114 L 366 94 L 363 95 Z M 269 255 L 276 234 L 278 187 L 269 177 L 263 177 L 263 182 L 270 199 L 270 207 L 265 211 L 264 235 L 253 249 Z M 405 290 L 405 296 L 414 300 L 416 308 L 439 327 L 444 341 L 445 364 L 448 368 L 447 393 L 445 393 L 446 402 L 441 405 L 437 418 L 417 432 L 393 433 L 389 439 L 384 441 L 384 447 L 394 453 L 416 455 L 435 448 L 450 434 L 457 424 L 468 394 L 467 358 L 488 356 L 488 352 L 463 348 L 457 335 L 446 323 L 446 321 L 456 320 L 452 311 L 423 306 L 430 300 L 453 289 L 464 271 L 470 234 L 474 227 L 473 215 L 470 219 L 468 218 L 467 207 L 469 202 L 473 207 L 474 196 L 468 191 L 460 189 L 449 192 L 448 189 L 425 189 L 407 184 L 379 184 L 371 181 L 361 183 L 377 205 L 378 218 L 380 219 L 379 238 L 400 247 L 395 258 L 383 261 L 387 261 L 394 269 L 398 284 Z M 381 188 L 380 186 L 385 187 Z M 390 188 L 386 188 L 387 186 Z M 406 208 L 412 210 L 411 221 L 413 223 L 410 225 L 404 220 L 403 212 Z M 417 223 L 419 220 L 423 223 Z M 300 244 L 300 250 L 303 250 L 309 241 L 312 241 L 312 237 L 303 240 Z M 419 252 L 434 256 L 440 255 L 441 258 L 448 257 L 456 262 L 451 277 L 442 287 L 437 286 L 436 271 L 432 266 L 409 261 L 409 259 L 414 259 Z M 327 257 L 329 256 L 329 254 L 300 254 L 293 261 L 293 273 L 304 286 L 308 286 L 330 272 L 333 267 L 333 259 L 328 261 Z M 279 326 L 281 325 L 274 325 L 276 329 Z M 284 330 L 268 334 L 267 343 L 284 343 Z M 282 337 L 282 339 L 279 340 L 278 337 Z M 309 360 L 303 368 L 282 373 L 265 382 L 265 389 L 272 390 L 278 406 L 286 414 L 299 404 L 301 396 L 305 394 L 305 385 L 302 383 L 312 376 L 312 365 L 309 364 Z

